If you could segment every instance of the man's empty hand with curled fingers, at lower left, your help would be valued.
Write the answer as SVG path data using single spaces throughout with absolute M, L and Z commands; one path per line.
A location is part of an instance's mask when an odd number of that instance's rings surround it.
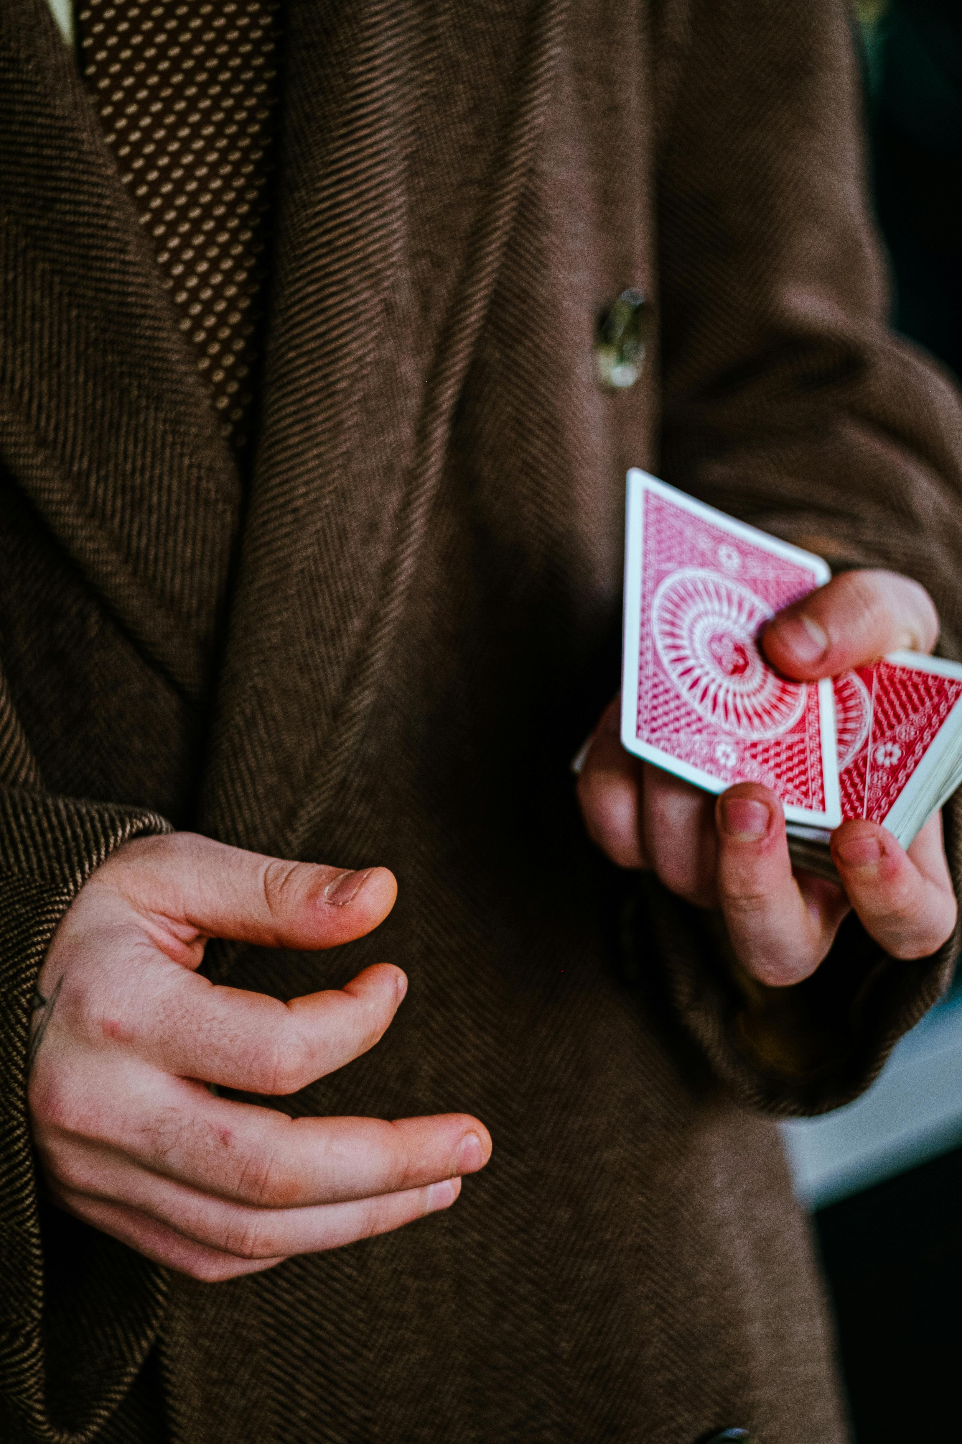
M 407 979 L 381 963 L 284 1004 L 198 976 L 206 939 L 333 947 L 376 927 L 395 894 L 385 868 L 280 862 L 190 833 L 108 858 L 37 982 L 29 1102 L 56 1203 L 208 1281 L 449 1207 L 490 1155 L 475 1118 L 288 1118 L 208 1089 L 294 1093 L 343 1067 L 381 1038 Z

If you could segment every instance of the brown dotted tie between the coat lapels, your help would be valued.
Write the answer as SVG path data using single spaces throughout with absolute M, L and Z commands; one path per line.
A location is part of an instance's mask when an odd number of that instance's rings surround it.
M 225 436 L 247 448 L 280 0 L 76 0 L 81 68 Z

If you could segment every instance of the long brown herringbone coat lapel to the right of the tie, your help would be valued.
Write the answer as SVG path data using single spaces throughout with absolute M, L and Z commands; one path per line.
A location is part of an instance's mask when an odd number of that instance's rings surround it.
M 290 0 L 264 429 L 205 826 L 309 851 L 366 725 L 564 0 Z

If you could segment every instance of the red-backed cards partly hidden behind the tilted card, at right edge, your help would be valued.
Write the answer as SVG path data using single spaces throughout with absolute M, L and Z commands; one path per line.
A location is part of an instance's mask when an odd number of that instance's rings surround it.
M 837 677 L 842 817 L 884 823 L 900 840 L 916 813 L 920 826 L 953 775 L 961 699 L 956 663 L 910 651 Z

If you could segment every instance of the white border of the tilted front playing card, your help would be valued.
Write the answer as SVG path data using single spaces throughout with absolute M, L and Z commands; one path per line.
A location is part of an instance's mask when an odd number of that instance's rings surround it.
M 695 787 L 701 787 L 704 791 L 718 794 L 727 790 L 727 783 L 720 781 L 710 773 L 700 771 L 697 767 L 691 767 L 688 762 L 678 761 L 676 758 L 668 758 L 665 752 L 650 747 L 648 742 L 639 742 L 636 736 L 637 669 L 642 643 L 642 540 L 646 491 L 653 491 L 658 495 L 665 497 L 666 501 L 682 507 L 692 516 L 708 517 L 714 526 L 727 531 L 730 536 L 740 537 L 743 542 L 750 542 L 754 546 L 762 546 L 766 552 L 783 556 L 786 560 L 795 562 L 799 566 L 806 566 L 812 572 L 816 586 L 824 586 L 825 582 L 831 579 L 832 573 L 828 563 L 821 556 L 815 556 L 813 552 L 803 552 L 802 547 L 792 546 L 789 542 L 782 542 L 779 537 L 770 537 L 767 533 L 749 526 L 746 521 L 737 521 L 734 517 L 727 517 L 724 511 L 718 511 L 715 507 L 708 507 L 702 501 L 697 501 L 694 497 L 689 497 L 684 491 L 678 491 L 676 487 L 669 487 L 668 482 L 659 481 L 658 477 L 652 477 L 639 466 L 632 466 L 629 471 L 625 494 L 622 747 L 626 751 L 633 752 L 635 757 L 642 757 L 646 761 L 653 762 L 656 767 L 661 767 L 663 771 L 671 771 L 676 777 L 682 777 L 685 781 L 694 783 Z M 838 790 L 835 692 L 831 677 L 822 677 L 818 683 L 818 702 L 826 810 L 824 813 L 809 812 L 806 807 L 795 807 L 790 803 L 783 803 L 782 807 L 787 822 L 802 822 L 809 823 L 813 827 L 822 826 L 834 829 L 841 823 L 842 804 Z M 671 762 L 671 765 L 666 765 L 668 762 Z M 832 801 L 835 803 L 834 809 L 831 806 Z

